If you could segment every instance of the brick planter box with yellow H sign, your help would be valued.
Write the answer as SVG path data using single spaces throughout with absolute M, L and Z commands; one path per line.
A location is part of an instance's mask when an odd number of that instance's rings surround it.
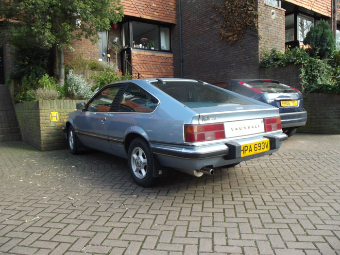
M 67 148 L 62 132 L 66 114 L 84 100 L 39 100 L 15 104 L 22 140 L 40 151 Z

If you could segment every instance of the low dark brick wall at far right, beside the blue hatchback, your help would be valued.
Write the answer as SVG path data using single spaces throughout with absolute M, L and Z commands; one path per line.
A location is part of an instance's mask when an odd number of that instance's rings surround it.
M 307 123 L 298 132 L 340 134 L 340 94 L 305 94 L 304 105 Z

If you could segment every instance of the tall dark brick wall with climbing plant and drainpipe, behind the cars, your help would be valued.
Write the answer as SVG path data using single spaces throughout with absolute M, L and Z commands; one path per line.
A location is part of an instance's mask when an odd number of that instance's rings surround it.
M 216 1 L 222 4 L 222 0 Z M 224 79 L 258 77 L 258 38 L 246 33 L 243 40 L 230 46 L 222 41 L 221 18 L 204 0 L 181 1 L 183 78 L 213 82 Z M 178 9 L 178 8 L 177 8 Z M 178 15 L 178 14 L 177 14 Z M 180 77 L 179 25 L 173 29 L 175 77 Z

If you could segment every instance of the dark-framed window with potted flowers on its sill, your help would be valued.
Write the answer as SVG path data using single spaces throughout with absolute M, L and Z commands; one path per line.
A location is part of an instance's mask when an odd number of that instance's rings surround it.
M 171 51 L 170 27 L 137 21 L 123 24 L 123 45 L 154 51 Z

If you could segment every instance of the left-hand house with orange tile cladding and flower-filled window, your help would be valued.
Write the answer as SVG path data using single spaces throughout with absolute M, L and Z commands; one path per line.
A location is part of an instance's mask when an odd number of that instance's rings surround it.
M 143 78 L 174 77 L 171 28 L 176 24 L 176 0 L 121 0 L 124 17 L 119 24 L 112 24 L 110 31 L 99 32 L 101 40 L 92 44 L 89 40 L 75 41 L 75 51 L 65 51 L 65 61 L 83 53 L 87 59 L 116 61 L 110 51 L 113 44 L 122 47 L 118 53 L 118 66 L 123 72 Z M 154 42 L 143 45 L 141 38 Z M 105 53 L 103 56 L 102 53 Z M 137 76 L 137 75 L 136 75 Z

